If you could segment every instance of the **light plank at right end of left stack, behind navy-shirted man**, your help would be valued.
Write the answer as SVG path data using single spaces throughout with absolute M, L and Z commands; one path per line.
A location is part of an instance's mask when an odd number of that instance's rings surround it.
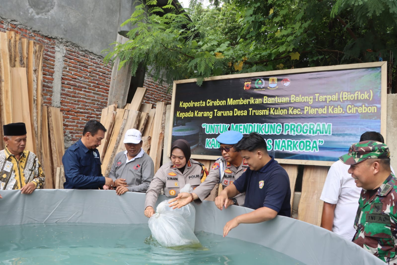
M 64 122 L 59 108 L 48 107 L 48 128 L 54 168 L 60 167 L 62 165 L 62 156 L 65 153 L 65 143 Z

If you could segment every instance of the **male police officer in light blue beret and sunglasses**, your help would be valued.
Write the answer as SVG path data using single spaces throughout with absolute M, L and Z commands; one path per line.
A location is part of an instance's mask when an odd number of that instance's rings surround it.
M 233 147 L 241 138 L 243 138 L 243 134 L 236 131 L 226 131 L 216 137 L 216 140 L 220 143 L 219 151 L 221 151 L 222 157 L 218 158 L 212 165 L 207 178 L 219 179 L 223 189 L 233 184 L 248 168 L 248 164 Z M 229 198 L 226 203 L 227 206 L 233 204 L 244 206 L 244 199 L 245 193 L 240 193 L 233 198 Z

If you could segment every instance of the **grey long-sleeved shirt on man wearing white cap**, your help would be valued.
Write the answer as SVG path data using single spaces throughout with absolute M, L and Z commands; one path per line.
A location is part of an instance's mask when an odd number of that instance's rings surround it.
M 109 178 L 115 181 L 125 178 L 128 191 L 146 192 L 154 176 L 154 164 L 152 158 L 143 151 L 127 162 L 126 151 L 119 152 L 112 164 Z

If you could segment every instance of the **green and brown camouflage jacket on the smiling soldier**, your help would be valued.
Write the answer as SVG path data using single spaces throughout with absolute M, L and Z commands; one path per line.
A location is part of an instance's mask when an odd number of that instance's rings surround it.
M 393 174 L 375 193 L 362 190 L 354 223 L 358 246 L 387 264 L 397 265 L 397 184 Z

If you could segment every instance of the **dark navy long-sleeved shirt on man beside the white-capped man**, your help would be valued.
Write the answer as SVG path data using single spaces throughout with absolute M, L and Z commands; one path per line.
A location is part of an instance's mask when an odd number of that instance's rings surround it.
M 89 150 L 81 139 L 66 150 L 62 164 L 65 189 L 98 189 L 105 185 L 98 149 Z

